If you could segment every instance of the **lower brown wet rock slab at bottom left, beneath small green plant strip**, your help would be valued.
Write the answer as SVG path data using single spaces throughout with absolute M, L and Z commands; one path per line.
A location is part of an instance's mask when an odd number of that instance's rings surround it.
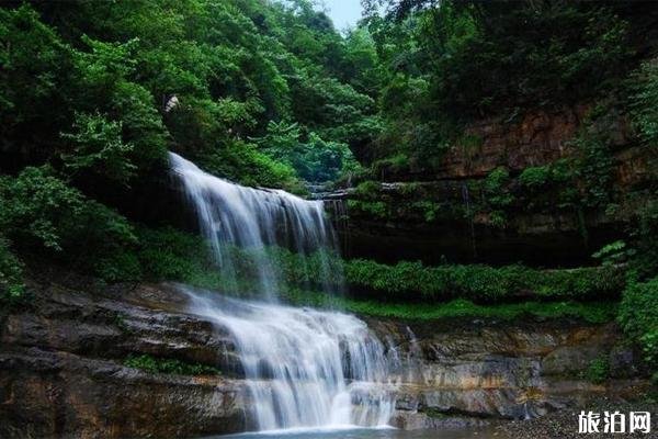
M 246 392 L 36 348 L 0 352 L 0 437 L 191 437 L 242 431 Z

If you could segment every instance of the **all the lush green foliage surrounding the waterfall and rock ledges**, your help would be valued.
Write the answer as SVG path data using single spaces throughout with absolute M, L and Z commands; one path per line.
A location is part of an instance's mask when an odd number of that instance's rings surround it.
M 514 122 L 529 108 L 598 101 L 620 90 L 643 145 L 658 139 L 656 64 L 644 63 L 623 82 L 635 63 L 629 42 L 643 32 L 639 14 L 624 2 L 392 1 L 395 16 L 372 14 L 345 35 L 307 0 L 15 3 L 0 8 L 4 297 L 23 293 L 16 255 L 30 254 L 106 281 L 225 288 L 201 238 L 136 226 L 117 213 L 118 200 L 163 166 L 168 149 L 245 184 L 303 193 L 300 179 L 360 172 L 354 155 L 372 162 L 362 172 L 371 179 L 436 167 L 454 149 L 468 161 L 483 139 L 465 123 Z M 572 157 L 520 175 L 496 168 L 463 185 L 467 207 L 408 184 L 400 189 L 405 209 L 427 223 L 481 214 L 506 228 L 513 209 L 583 217 L 616 205 L 614 145 L 599 130 L 609 110 L 602 106 L 582 124 Z M 374 300 L 336 299 L 342 306 L 405 318 L 533 314 L 602 322 L 612 305 L 567 301 L 616 299 L 625 285 L 620 263 L 628 263 L 645 282 L 628 284 L 620 319 L 655 360 L 656 289 L 647 281 L 658 261 L 655 199 L 634 211 L 636 227 L 623 245 L 595 254 L 603 268 L 384 266 L 268 251 L 282 267 L 282 288 L 337 285 L 344 272 L 353 297 Z M 374 181 L 356 188 L 349 207 L 382 221 L 399 214 Z M 252 255 L 231 251 L 240 282 L 249 284 Z M 326 260 L 331 269 L 322 271 Z M 186 368 L 148 357 L 129 361 L 151 371 Z

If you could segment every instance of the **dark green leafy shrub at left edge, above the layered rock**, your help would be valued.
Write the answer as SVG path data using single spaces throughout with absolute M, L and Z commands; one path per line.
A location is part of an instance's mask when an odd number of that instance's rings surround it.
M 110 267 L 137 243 L 127 219 L 86 198 L 52 168 L 29 167 L 15 178 L 0 178 L 0 225 L 22 248 L 45 250 L 107 280 L 138 277 L 134 261 Z M 120 274 L 122 269 L 131 272 Z

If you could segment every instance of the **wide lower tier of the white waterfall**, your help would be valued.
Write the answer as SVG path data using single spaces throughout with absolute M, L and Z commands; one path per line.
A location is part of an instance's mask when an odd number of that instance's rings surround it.
M 389 358 L 354 316 L 181 288 L 190 309 L 235 344 L 259 430 L 388 424 Z M 360 410 L 352 409 L 359 401 Z

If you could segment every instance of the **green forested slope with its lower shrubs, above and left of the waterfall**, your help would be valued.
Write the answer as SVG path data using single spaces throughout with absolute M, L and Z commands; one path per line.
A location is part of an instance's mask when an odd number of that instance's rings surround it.
M 145 249 L 171 230 L 137 237 L 117 213 L 168 149 L 304 193 L 300 178 L 358 168 L 349 146 L 378 131 L 374 42 L 309 1 L 18 3 L 0 7 L 3 284 L 26 252 L 107 281 L 201 279 L 201 258 Z

